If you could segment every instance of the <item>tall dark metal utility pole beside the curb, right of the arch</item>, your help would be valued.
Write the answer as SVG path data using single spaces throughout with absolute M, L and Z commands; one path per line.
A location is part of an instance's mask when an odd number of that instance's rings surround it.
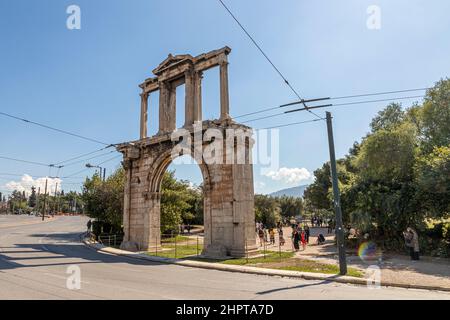
M 333 182 L 334 211 L 336 213 L 336 238 L 339 253 L 339 271 L 341 275 L 345 275 L 347 274 L 347 260 L 345 257 L 344 229 L 342 227 L 341 196 L 339 194 L 339 185 L 336 170 L 336 155 L 334 153 L 333 125 L 331 123 L 331 113 L 326 112 L 326 115 L 328 146 L 330 149 L 331 179 Z

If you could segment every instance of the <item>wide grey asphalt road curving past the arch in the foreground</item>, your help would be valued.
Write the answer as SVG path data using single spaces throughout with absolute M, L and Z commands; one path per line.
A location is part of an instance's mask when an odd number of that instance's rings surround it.
M 0 217 L 0 299 L 450 299 L 450 293 L 188 268 L 98 253 L 80 242 L 86 218 Z M 67 270 L 81 288 L 67 288 Z

